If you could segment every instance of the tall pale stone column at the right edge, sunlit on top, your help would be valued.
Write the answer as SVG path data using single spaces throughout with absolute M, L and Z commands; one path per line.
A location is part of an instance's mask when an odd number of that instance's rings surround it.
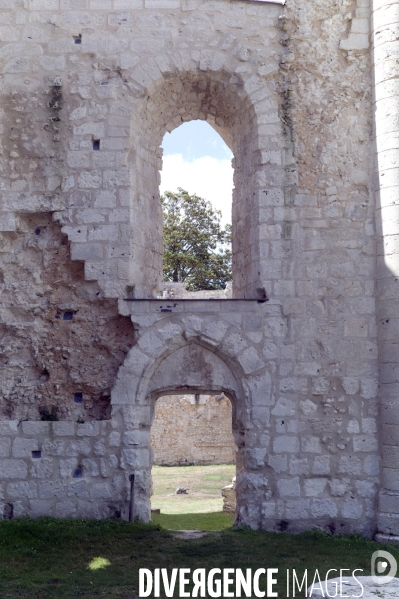
M 399 535 L 399 3 L 373 2 L 374 164 L 383 485 L 379 530 Z M 382 540 L 382 539 L 381 539 Z M 386 538 L 384 539 L 386 540 Z

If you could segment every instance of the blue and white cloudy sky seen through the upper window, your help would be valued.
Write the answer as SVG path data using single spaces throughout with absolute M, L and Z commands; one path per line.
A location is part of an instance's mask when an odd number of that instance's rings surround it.
M 161 193 L 178 187 L 209 200 L 231 222 L 233 154 L 220 135 L 205 121 L 184 123 L 166 133 L 161 172 Z

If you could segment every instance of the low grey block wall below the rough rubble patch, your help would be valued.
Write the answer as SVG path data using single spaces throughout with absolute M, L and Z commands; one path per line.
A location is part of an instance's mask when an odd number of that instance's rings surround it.
M 110 422 L 10 420 L 0 431 L 0 517 L 128 517 Z

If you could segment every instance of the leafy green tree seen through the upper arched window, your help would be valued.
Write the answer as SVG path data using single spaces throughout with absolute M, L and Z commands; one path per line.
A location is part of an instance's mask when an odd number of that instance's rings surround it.
M 231 275 L 231 226 L 221 212 L 179 187 L 161 197 L 164 280 L 185 283 L 188 291 L 225 289 Z

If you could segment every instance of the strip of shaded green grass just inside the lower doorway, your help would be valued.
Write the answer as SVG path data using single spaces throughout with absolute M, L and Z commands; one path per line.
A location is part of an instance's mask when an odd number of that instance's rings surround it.
M 168 530 L 225 530 L 231 528 L 234 514 L 206 512 L 198 514 L 152 514 L 151 523 Z

